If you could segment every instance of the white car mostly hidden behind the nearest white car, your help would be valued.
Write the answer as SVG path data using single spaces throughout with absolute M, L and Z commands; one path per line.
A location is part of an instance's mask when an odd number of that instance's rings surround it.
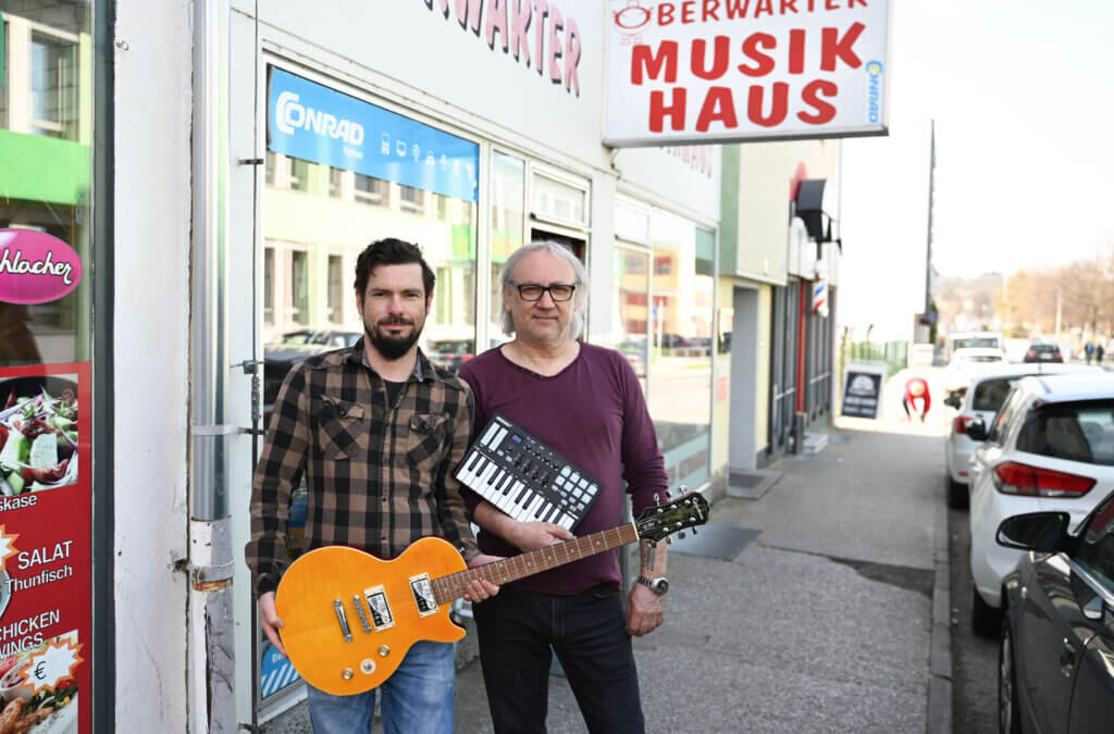
M 945 462 L 948 470 L 948 505 L 955 508 L 967 507 L 968 488 L 970 486 L 970 461 L 975 449 L 981 446 L 967 433 L 967 425 L 975 419 L 981 419 L 985 425 L 990 424 L 994 414 L 1001 408 L 1003 401 L 1017 381 L 1025 376 L 1039 374 L 1072 374 L 1081 372 L 1098 372 L 1094 366 L 1085 364 L 989 364 L 969 375 L 966 390 L 959 390 L 946 398 L 944 404 L 955 408 L 955 419 L 951 431 L 945 444 Z

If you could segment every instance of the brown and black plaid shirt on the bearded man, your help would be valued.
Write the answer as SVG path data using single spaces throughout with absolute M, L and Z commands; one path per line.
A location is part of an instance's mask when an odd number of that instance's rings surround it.
M 478 550 L 451 477 L 468 450 L 472 393 L 419 350 L 394 405 L 361 340 L 295 365 L 278 391 L 252 488 L 244 549 L 255 594 L 273 591 L 286 566 L 294 489 L 309 487 L 306 550 L 351 546 L 393 558 L 440 536 L 466 559 Z

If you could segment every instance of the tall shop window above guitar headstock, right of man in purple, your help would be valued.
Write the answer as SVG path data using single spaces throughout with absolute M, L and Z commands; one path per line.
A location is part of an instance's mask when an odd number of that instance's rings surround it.
M 709 477 L 712 421 L 713 288 L 707 238 L 692 222 L 655 211 L 649 309 L 649 414 L 670 489 Z

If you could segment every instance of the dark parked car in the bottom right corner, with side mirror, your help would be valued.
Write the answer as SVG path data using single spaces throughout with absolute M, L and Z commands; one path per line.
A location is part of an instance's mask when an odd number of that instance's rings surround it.
M 1071 534 L 1067 512 L 1007 518 L 1025 554 L 1003 581 L 999 731 L 1114 732 L 1114 493 Z

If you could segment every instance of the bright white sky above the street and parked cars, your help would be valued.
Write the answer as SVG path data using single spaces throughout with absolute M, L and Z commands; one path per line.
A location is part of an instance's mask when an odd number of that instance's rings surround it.
M 890 135 L 843 141 L 841 321 L 900 331 L 924 305 L 932 120 L 941 275 L 1108 252 L 1114 2 L 891 4 Z

